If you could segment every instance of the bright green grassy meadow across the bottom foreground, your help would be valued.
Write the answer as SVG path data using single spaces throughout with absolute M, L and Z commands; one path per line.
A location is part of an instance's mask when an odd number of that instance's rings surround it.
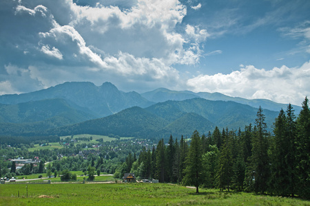
M 310 205 L 309 201 L 244 192 L 218 192 L 178 185 L 123 184 L 0 185 L 0 205 Z M 18 196 L 19 193 L 19 197 Z

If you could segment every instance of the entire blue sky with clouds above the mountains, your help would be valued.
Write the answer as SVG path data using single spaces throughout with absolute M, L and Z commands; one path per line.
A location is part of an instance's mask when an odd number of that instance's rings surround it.
M 308 0 L 1 0 L 0 95 L 90 81 L 300 105 L 309 10 Z

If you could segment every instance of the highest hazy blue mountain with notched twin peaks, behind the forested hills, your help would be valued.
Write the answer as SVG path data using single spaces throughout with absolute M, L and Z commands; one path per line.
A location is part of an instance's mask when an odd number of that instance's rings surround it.
M 18 104 L 52 98 L 61 98 L 82 108 L 87 108 L 96 114 L 96 117 L 112 115 L 132 106 L 145 107 L 153 104 L 138 93 L 119 91 L 110 82 L 105 82 L 100 87 L 96 87 L 91 82 L 65 82 L 31 93 L 1 95 L 0 104 Z

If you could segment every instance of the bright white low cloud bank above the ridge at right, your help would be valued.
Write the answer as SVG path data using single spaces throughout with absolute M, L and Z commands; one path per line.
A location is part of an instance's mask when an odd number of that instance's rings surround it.
M 241 66 L 239 71 L 229 74 L 196 76 L 187 80 L 187 86 L 194 91 L 220 92 L 242 98 L 263 98 L 297 105 L 310 94 L 310 62 L 305 62 L 302 67 L 289 68 L 284 65 L 269 71 L 257 69 L 253 65 Z

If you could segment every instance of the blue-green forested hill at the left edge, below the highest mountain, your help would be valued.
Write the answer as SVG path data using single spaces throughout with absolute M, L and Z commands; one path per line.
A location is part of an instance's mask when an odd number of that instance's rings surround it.
M 62 99 L 0 104 L 0 135 L 36 135 L 89 119 L 94 119 L 92 113 L 81 111 L 79 106 Z

